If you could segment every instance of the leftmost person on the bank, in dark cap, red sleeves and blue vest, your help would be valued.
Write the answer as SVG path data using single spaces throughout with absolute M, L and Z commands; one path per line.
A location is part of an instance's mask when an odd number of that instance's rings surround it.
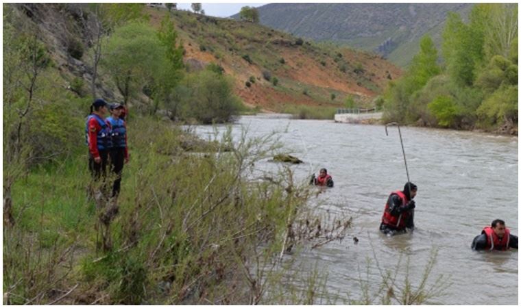
M 98 180 L 101 175 L 106 176 L 108 149 L 112 143 L 110 125 L 104 119 L 106 113 L 107 103 L 103 99 L 96 99 L 90 105 L 90 115 L 85 125 L 88 168 L 95 180 Z

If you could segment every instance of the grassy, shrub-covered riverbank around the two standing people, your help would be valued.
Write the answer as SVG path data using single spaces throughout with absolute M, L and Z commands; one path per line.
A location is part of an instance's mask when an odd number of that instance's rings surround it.
M 250 270 L 275 274 L 271 257 L 288 244 L 288 219 L 308 196 L 280 184 L 291 175 L 250 181 L 249 166 L 271 142 L 204 146 L 154 118 L 132 119 L 128 133 L 117 202 L 88 198 L 86 149 L 14 183 L 14 226 L 3 229 L 4 304 L 266 300 L 276 279 Z

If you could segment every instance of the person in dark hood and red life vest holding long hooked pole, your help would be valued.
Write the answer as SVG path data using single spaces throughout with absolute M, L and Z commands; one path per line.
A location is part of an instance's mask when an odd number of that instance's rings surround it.
M 416 185 L 407 182 L 403 190 L 391 192 L 383 211 L 380 231 L 391 236 L 406 232 L 406 228 L 414 228 L 413 218 L 416 205 L 413 198 L 416 196 L 417 189 Z

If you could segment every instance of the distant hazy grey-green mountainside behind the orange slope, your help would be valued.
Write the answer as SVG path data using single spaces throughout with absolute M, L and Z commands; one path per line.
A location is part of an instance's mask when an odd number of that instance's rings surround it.
M 407 66 L 424 34 L 439 46 L 448 12 L 467 16 L 471 8 L 472 3 L 271 3 L 258 11 L 263 25 L 374 51 Z

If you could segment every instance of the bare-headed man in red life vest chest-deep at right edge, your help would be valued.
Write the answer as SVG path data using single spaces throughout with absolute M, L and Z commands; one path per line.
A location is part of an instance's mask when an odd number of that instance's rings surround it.
M 510 233 L 505 222 L 500 219 L 492 221 L 490 227 L 483 228 L 481 235 L 472 241 L 475 251 L 507 251 L 509 248 L 518 249 L 518 237 Z

